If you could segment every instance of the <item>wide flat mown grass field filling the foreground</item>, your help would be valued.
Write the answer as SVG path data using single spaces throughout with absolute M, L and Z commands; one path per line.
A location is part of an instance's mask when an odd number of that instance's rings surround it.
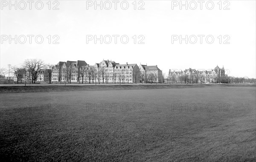
M 34 87 L 0 88 L 1 162 L 256 160 L 255 85 Z

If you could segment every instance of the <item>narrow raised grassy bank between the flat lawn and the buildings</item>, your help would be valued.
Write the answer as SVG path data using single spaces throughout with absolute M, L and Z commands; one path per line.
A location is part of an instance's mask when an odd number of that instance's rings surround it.
M 255 84 L 27 84 L 0 85 L 0 93 L 64 92 L 91 90 L 145 90 L 202 87 L 256 87 Z

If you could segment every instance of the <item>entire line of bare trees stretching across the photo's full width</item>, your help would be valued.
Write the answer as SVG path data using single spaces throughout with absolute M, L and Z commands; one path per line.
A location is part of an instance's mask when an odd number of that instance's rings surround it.
M 23 62 L 23 64 L 20 67 L 12 67 L 12 73 L 17 78 L 17 83 L 20 81 L 22 83 L 22 80 L 26 82 L 26 80 L 29 80 L 29 83 L 35 83 L 38 79 L 39 75 L 47 74 L 49 83 L 52 82 L 52 75 L 53 74 L 53 67 L 54 65 L 51 64 L 45 64 L 44 61 L 41 59 L 27 59 Z M 0 78 L 3 78 L 3 70 L 1 69 L 1 76 Z M 99 67 L 99 69 L 95 69 L 93 66 L 82 66 L 78 69 L 74 69 L 72 66 L 68 66 L 66 68 L 61 69 L 61 75 L 60 77 L 63 77 L 64 80 L 68 81 L 68 83 L 71 83 L 71 78 L 74 74 L 77 74 L 76 76 L 77 80 L 81 81 L 82 84 L 86 84 L 86 81 L 89 81 L 89 84 L 101 83 L 100 80 L 102 80 L 102 83 L 109 83 L 111 80 L 111 83 L 116 83 L 116 81 L 119 82 L 119 84 L 124 84 L 125 79 L 128 79 L 130 81 L 131 77 L 134 81 L 139 81 L 140 83 L 156 83 L 157 84 L 157 78 L 158 73 L 156 72 L 150 72 L 147 75 L 143 71 L 140 71 L 140 69 L 134 69 L 132 71 L 129 71 L 129 69 L 118 69 L 116 71 L 109 71 L 110 69 L 105 69 Z M 59 72 L 56 74 L 59 78 Z M 80 79 L 81 78 L 81 79 Z M 163 73 L 163 81 L 167 81 L 169 84 L 178 84 L 178 83 L 226 83 L 226 84 L 241 84 L 241 83 L 256 83 L 256 79 L 254 78 L 248 78 L 248 77 L 233 77 L 233 76 L 222 76 L 220 78 L 217 77 L 217 75 L 202 75 L 202 74 L 184 74 L 184 75 L 165 75 Z

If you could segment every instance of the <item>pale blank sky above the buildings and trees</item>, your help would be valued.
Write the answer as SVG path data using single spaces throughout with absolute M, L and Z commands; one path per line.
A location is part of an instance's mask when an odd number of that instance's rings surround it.
M 87 64 L 93 65 L 103 59 L 116 61 L 120 64 L 147 64 L 157 65 L 163 72 L 168 73 L 169 69 L 214 69 L 217 65 L 230 71 L 229 75 L 249 78 L 256 78 L 256 3 L 255 0 L 229 0 L 228 3 L 218 4 L 219 0 L 211 3 L 204 1 L 202 9 L 200 3 L 188 2 L 188 9 L 185 6 L 180 10 L 177 3 L 167 0 L 144 0 L 137 1 L 134 10 L 134 0 L 126 3 L 119 1 L 115 10 L 115 3 L 110 1 L 112 8 L 107 10 L 109 3 L 102 1 L 102 10 L 98 6 L 96 10 L 91 3 L 83 0 L 59 0 L 58 3 L 51 4 L 51 10 L 47 4 L 49 0 L 42 1 L 43 9 L 39 10 L 40 3 L 26 3 L 24 5 L 17 1 L 15 6 L 9 9 L 9 4 L 1 1 L 0 10 L 0 67 L 7 67 L 7 64 L 19 66 L 25 59 L 38 58 L 45 63 L 57 64 L 58 61 L 84 60 Z M 6 1 L 9 3 L 9 0 Z M 26 2 L 26 1 L 25 1 Z M 94 1 L 92 1 L 94 3 Z M 180 2 L 177 1 L 178 3 Z M 196 1 L 198 2 L 198 1 Z M 53 1 L 52 1 L 53 3 Z M 99 2 L 100 3 L 100 2 Z M 144 3 L 144 4 L 143 4 Z M 186 1 L 183 1 L 186 3 Z M 208 9 L 206 7 L 208 4 Z M 13 3 L 14 4 L 14 3 Z M 88 4 L 88 5 L 87 5 Z M 173 4 L 173 9 L 172 9 Z M 58 10 L 52 10 L 54 6 Z M 138 10 L 138 8 L 144 10 Z M 224 7 L 226 9 L 224 10 Z M 20 8 L 19 8 L 20 7 Z M 88 7 L 88 9 L 87 9 Z M 15 44 L 12 40 L 5 40 L 4 35 L 25 35 L 27 40 Z M 43 43 L 29 43 L 27 35 L 42 35 Z M 48 43 L 48 35 L 58 35 L 59 44 L 53 44 L 55 38 L 51 38 Z M 87 35 L 111 35 L 112 42 L 106 37 L 106 43 L 94 40 L 86 41 Z M 112 35 L 117 37 L 115 44 Z M 120 41 L 122 35 L 127 35 L 128 43 Z M 134 44 L 134 35 L 137 36 Z M 139 44 L 139 35 L 144 36 L 144 44 Z M 172 35 L 197 36 L 198 40 L 191 37 L 191 43 L 179 40 L 172 43 Z M 200 43 L 198 35 L 205 35 Z M 210 44 L 211 37 L 206 41 L 206 36 L 212 35 L 213 43 Z M 221 44 L 219 43 L 221 35 Z M 224 38 L 224 35 L 227 35 Z M 229 40 L 227 40 L 229 39 Z M 125 38 L 123 39 L 125 41 Z M 224 44 L 224 41 L 227 43 Z M 40 39 L 38 38 L 38 41 Z

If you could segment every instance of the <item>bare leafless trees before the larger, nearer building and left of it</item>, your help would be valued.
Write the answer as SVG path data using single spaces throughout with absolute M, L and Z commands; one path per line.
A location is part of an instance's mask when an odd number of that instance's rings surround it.
M 27 59 L 23 62 L 23 64 L 20 67 L 12 67 L 12 73 L 17 78 L 17 83 L 20 81 L 29 81 L 29 83 L 35 83 L 39 77 L 39 75 L 45 75 L 47 76 L 47 81 L 51 83 L 52 81 L 52 71 L 53 71 L 53 65 L 51 64 L 45 64 L 44 61 L 40 59 Z M 71 83 L 71 78 L 73 76 L 73 71 L 77 69 L 73 69 L 72 66 L 63 67 L 61 69 L 61 73 L 57 74 L 59 77 L 64 78 L 65 84 L 66 79 L 68 80 L 68 83 Z M 133 78 L 131 78 L 133 77 Z M 81 78 L 81 79 L 80 79 Z M 130 81 L 131 79 L 134 81 L 151 81 L 156 82 L 157 74 L 149 74 L 148 76 L 145 76 L 143 73 L 140 72 L 140 69 L 134 69 L 132 71 L 126 70 L 126 69 L 119 69 L 119 71 L 108 71 L 108 69 L 99 68 L 95 69 L 94 67 L 90 66 L 82 66 L 79 69 L 79 74 L 77 77 L 77 80 L 81 80 L 81 83 L 84 84 L 84 81 L 88 80 L 89 83 L 91 81 L 94 83 L 98 82 L 100 84 L 100 80 L 104 83 L 108 83 L 110 81 L 112 83 L 116 83 L 118 81 L 120 84 L 121 82 L 124 84 L 125 80 L 128 79 Z M 62 79 L 61 79 L 62 80 Z

